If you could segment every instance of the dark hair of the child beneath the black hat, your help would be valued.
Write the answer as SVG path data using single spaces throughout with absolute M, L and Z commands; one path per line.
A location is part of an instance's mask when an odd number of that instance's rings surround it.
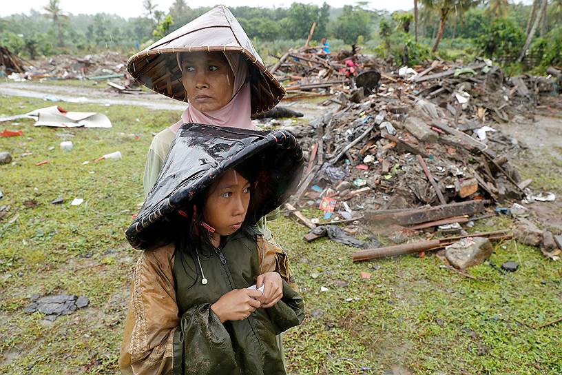
M 247 179 L 250 183 L 250 201 L 251 197 L 253 196 L 254 192 L 254 182 L 256 181 L 256 171 L 255 168 L 251 168 L 250 163 L 240 163 L 233 167 L 233 169 L 240 174 L 240 176 Z M 219 181 L 220 176 L 215 180 Z M 198 267 L 198 260 L 197 260 L 197 250 L 201 250 L 202 247 L 209 247 L 211 245 L 211 234 L 210 232 L 202 226 L 203 223 L 203 210 L 205 210 L 205 204 L 207 203 L 207 199 L 212 192 L 212 188 L 214 186 L 210 185 L 202 190 L 199 194 L 194 196 L 189 202 L 189 207 L 185 207 L 182 211 L 182 214 L 178 214 L 178 218 L 175 221 L 174 225 L 174 233 L 175 239 L 174 243 L 176 245 L 176 250 L 174 252 L 174 258 L 176 254 L 179 254 L 179 259 L 176 261 L 181 261 L 182 266 L 185 270 L 185 256 L 191 256 L 193 259 L 195 267 L 195 275 L 194 275 L 194 283 L 191 284 L 190 287 L 193 287 L 200 276 L 200 269 Z M 242 223 L 242 227 L 240 230 L 247 236 L 249 233 L 248 229 L 248 222 L 244 220 Z M 221 239 L 222 241 L 222 239 Z M 221 243 L 222 245 L 222 243 Z M 199 252 L 199 255 L 202 256 L 202 253 Z M 187 270 L 186 270 L 187 274 Z

